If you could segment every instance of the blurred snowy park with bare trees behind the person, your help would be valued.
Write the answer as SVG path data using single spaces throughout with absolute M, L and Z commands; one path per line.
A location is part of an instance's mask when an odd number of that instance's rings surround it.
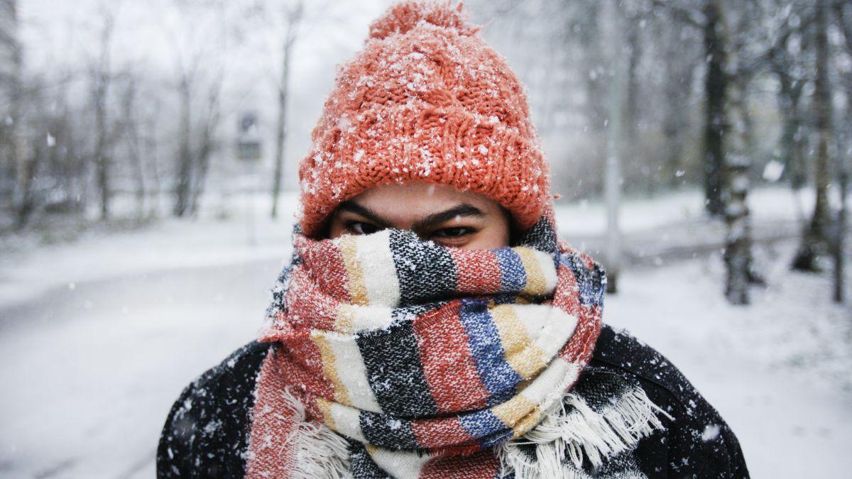
M 153 476 L 172 401 L 261 325 L 296 164 L 389 5 L 0 0 L 0 476 Z M 527 85 L 604 320 L 752 476 L 848 477 L 852 3 L 464 5 Z

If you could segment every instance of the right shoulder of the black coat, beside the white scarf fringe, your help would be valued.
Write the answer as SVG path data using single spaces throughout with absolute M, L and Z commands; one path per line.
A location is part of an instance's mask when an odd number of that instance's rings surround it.
M 648 477 L 748 477 L 734 431 L 682 372 L 656 349 L 628 332 L 603 326 L 593 366 L 620 372 L 642 385 L 648 397 L 671 414 L 666 430 L 640 443 Z

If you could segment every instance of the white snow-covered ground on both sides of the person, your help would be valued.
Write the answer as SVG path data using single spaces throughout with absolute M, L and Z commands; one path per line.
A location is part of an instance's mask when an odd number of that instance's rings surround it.
M 794 205 L 780 189 L 751 197 L 764 228 L 789 227 Z M 239 211 L 227 221 L 169 220 L 70 244 L 5 245 L 0 476 L 153 476 L 172 401 L 253 338 L 289 256 L 287 218 L 254 217 L 254 245 Z M 557 218 L 568 240 L 605 225 L 594 203 L 561 206 Z M 627 239 L 642 238 L 642 247 L 717 231 L 697 192 L 631 200 L 622 218 Z M 794 247 L 756 247 L 769 286 L 752 290 L 750 306 L 725 303 L 713 253 L 626 268 L 604 318 L 686 373 L 740 438 L 752 476 L 846 477 L 852 309 L 829 301 L 827 274 L 786 270 Z

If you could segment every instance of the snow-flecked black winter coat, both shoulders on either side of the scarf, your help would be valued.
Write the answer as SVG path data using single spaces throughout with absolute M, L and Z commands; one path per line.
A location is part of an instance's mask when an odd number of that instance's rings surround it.
M 160 437 L 159 478 L 244 475 L 252 393 L 270 347 L 249 343 L 183 390 Z M 664 418 L 666 429 L 639 443 L 636 458 L 646 476 L 748 477 L 734 432 L 663 355 L 604 326 L 591 366 L 636 378 L 674 418 Z

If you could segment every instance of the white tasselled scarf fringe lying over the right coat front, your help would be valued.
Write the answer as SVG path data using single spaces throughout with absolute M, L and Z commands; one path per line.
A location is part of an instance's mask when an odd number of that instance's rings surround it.
M 567 413 L 566 405 L 573 406 L 573 411 Z M 664 428 L 657 413 L 671 419 L 639 386 L 599 413 L 582 397 L 569 393 L 533 430 L 498 447 L 501 476 L 514 471 L 517 479 L 587 477 L 582 470 L 584 458 L 597 468 L 605 459 L 634 449 L 643 437 Z M 522 452 L 519 444 L 535 444 L 536 458 Z M 567 467 L 566 457 L 575 468 Z

